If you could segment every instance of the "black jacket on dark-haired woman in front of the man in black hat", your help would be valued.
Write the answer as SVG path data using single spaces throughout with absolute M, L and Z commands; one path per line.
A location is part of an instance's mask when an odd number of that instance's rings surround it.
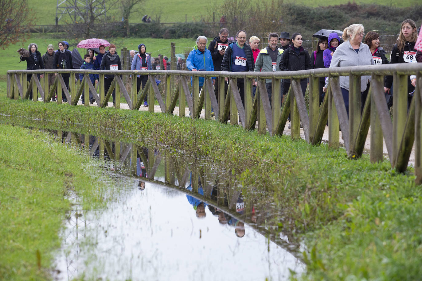
M 294 46 L 290 45 L 290 47 L 283 52 L 283 55 L 281 56 L 281 61 L 279 63 L 279 69 L 281 71 L 311 69 L 312 61 L 308 51 L 300 47 L 299 54 L 297 54 L 293 48 Z

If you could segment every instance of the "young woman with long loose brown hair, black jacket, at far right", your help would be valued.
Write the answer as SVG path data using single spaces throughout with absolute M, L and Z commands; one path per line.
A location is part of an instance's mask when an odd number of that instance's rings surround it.
M 418 37 L 416 24 L 411 19 L 406 19 L 401 23 L 400 35 L 391 51 L 390 63 L 396 64 L 400 62 L 415 63 L 416 62 L 416 50 L 415 43 Z M 385 78 L 384 91 L 390 93 L 393 82 L 392 76 Z M 410 78 L 407 83 L 408 90 L 410 93 L 414 91 L 415 87 L 412 86 Z M 411 100 L 411 96 L 409 97 Z M 409 102 L 410 103 L 410 102 Z

